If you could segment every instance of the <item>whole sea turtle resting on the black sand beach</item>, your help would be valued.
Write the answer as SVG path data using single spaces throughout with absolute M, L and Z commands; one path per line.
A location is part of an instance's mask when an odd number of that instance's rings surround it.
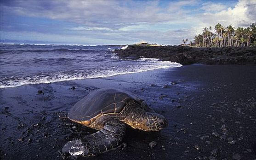
M 119 89 L 92 91 L 68 112 L 71 121 L 97 129 L 96 133 L 69 141 L 62 152 L 92 156 L 121 144 L 126 126 L 143 131 L 159 131 L 167 125 L 166 118 L 154 112 L 145 101 Z

